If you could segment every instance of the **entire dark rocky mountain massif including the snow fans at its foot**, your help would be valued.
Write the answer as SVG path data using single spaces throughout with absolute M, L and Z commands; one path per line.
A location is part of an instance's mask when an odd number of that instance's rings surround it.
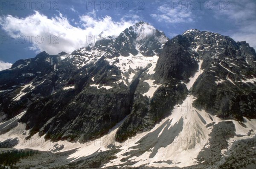
M 141 21 L 1 71 L 1 145 L 59 153 L 64 168 L 250 167 L 255 103 L 248 43 L 197 29 L 169 39 Z

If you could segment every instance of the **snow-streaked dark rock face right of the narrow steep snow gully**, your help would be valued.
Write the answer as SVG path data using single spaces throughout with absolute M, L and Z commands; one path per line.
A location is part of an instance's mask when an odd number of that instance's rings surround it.
M 248 43 L 230 37 L 192 30 L 183 36 L 204 60 L 204 72 L 195 82 L 194 105 L 223 118 L 256 117 L 256 57 Z

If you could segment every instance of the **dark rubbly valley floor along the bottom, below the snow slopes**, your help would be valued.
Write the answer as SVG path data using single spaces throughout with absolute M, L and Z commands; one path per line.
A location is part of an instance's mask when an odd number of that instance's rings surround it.
M 255 148 L 256 137 L 239 140 L 233 144 L 232 148 L 228 151 L 228 155 L 223 157 L 219 164 L 197 164 L 187 167 L 163 167 L 165 169 L 255 169 L 256 167 L 256 148 Z M 10 149 L 8 149 L 10 150 Z M 13 150 L 13 149 L 12 149 Z M 5 153 L 7 149 L 0 149 L 0 155 Z M 27 151 L 27 149 L 26 149 Z M 52 153 L 39 151 L 35 155 L 21 158 L 17 161 L 12 169 L 92 169 L 92 168 L 102 168 L 104 163 L 108 163 L 114 157 L 119 149 L 112 149 L 106 152 L 100 152 L 92 157 L 81 158 L 76 162 L 70 162 L 66 158 L 75 152 L 75 150 Z M 184 159 L 186 160 L 186 159 Z M 2 168 L 3 163 L 1 163 Z M 7 166 L 7 165 L 6 165 Z M 1 167 L 0 167 L 1 168 Z M 10 167 L 9 167 L 10 168 Z M 107 167 L 107 169 L 120 168 L 117 166 Z M 121 167 L 125 169 L 155 169 L 155 167 Z

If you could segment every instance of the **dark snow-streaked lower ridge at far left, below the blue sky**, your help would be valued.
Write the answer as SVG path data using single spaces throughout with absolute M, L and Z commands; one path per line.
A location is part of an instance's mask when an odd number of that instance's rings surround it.
M 51 94 L 54 85 L 52 80 L 55 78 L 52 71 L 57 62 L 58 55 L 41 52 L 35 58 L 18 60 L 10 69 L 0 72 L 0 122 L 18 115 L 33 101 Z M 45 76 L 48 78 L 44 85 L 40 85 Z M 36 88 L 28 85 L 33 82 Z M 32 88 L 34 90 L 30 92 Z M 19 97 L 23 96 L 21 91 L 27 92 L 22 99 Z

